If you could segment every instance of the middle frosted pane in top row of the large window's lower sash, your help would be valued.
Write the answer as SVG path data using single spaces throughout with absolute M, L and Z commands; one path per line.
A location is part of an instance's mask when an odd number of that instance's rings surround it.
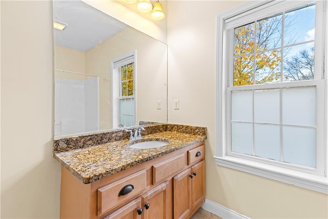
M 254 122 L 280 123 L 280 90 L 254 91 Z

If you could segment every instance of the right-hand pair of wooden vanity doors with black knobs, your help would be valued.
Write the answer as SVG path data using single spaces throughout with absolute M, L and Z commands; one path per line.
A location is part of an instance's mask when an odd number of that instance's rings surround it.
M 205 164 L 200 161 L 173 177 L 174 218 L 189 218 L 205 199 Z

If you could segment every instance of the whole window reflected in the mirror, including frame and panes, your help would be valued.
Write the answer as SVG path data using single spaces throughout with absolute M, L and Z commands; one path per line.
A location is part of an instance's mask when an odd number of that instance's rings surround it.
M 113 127 L 134 126 L 135 119 L 135 52 L 117 57 L 112 61 Z

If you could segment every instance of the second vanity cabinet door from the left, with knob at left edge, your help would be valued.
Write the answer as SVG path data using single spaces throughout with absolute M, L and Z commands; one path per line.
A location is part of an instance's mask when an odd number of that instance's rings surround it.
M 146 194 L 142 195 L 144 219 L 168 218 L 167 216 L 167 186 L 169 181 L 160 184 Z

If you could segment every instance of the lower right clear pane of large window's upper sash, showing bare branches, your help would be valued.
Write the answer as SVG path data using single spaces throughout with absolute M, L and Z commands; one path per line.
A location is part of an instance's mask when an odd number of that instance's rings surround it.
M 283 81 L 314 79 L 314 43 L 288 47 L 284 50 Z

